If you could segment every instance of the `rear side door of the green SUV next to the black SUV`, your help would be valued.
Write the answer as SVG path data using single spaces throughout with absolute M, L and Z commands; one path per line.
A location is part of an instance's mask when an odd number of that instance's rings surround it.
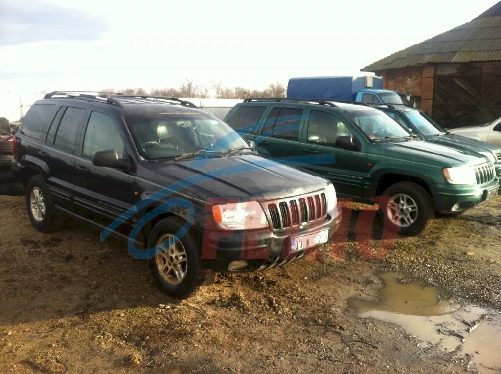
M 256 136 L 257 146 L 276 159 L 302 155 L 300 131 L 304 112 L 304 107 L 299 106 L 272 107 Z

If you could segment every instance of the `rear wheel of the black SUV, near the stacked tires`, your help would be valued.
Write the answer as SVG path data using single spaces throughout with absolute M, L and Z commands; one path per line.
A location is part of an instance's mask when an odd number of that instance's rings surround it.
M 32 197 L 35 198 L 35 195 L 37 194 L 36 191 L 41 194 L 41 199 L 39 199 L 40 205 L 37 204 L 37 208 L 40 209 L 42 206 L 45 207 L 45 212 L 38 217 L 39 219 L 35 217 L 31 207 L 31 199 Z M 34 196 L 32 196 L 32 192 L 34 193 Z M 38 231 L 51 232 L 55 230 L 58 216 L 55 212 L 49 188 L 45 184 L 44 178 L 41 175 L 34 175 L 26 185 L 26 208 L 33 227 L 35 227 Z M 39 209 L 35 210 L 39 211 Z

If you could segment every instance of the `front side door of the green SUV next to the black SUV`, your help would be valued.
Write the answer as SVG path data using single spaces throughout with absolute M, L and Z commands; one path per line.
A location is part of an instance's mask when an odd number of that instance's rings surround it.
M 355 138 L 350 126 L 336 115 L 316 108 L 311 109 L 308 113 L 305 141 L 301 148 L 305 155 L 329 155 L 333 156 L 333 160 L 327 162 L 328 157 L 318 157 L 318 161 L 315 161 L 315 158 L 311 157 L 311 162 L 305 163 L 304 167 L 331 180 L 336 192 L 362 196 L 367 180 L 365 142 L 362 142 L 360 151 L 344 149 L 336 146 L 336 140 L 340 136 Z

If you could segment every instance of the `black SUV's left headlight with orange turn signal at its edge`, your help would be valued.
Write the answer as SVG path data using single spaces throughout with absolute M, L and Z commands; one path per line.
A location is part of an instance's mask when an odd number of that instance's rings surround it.
M 212 216 L 224 230 L 252 230 L 268 227 L 263 208 L 257 201 L 212 206 Z

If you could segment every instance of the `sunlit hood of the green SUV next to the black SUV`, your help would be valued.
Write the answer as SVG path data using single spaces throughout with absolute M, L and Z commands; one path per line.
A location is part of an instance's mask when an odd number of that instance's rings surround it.
M 379 143 L 377 146 L 395 152 L 395 158 L 423 162 L 429 165 L 461 166 L 478 165 L 486 162 L 485 156 L 471 150 L 459 150 L 425 140 L 409 140 L 397 143 Z

